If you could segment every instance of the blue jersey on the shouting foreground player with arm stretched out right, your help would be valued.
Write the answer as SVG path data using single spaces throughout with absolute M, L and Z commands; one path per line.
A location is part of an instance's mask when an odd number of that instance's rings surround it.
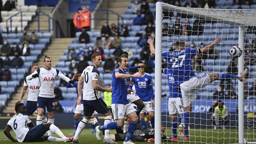
M 121 68 L 115 68 L 112 73 L 112 104 L 129 104 L 126 79 L 117 79 L 116 73 L 125 74 Z

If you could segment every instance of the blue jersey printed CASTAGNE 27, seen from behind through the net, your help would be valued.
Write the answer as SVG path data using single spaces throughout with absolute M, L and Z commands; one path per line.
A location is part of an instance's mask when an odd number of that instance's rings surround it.
M 172 75 L 178 84 L 181 84 L 191 77 L 196 76 L 192 68 L 192 57 L 198 54 L 198 49 L 185 48 L 174 52 L 163 52 L 162 57 L 167 60 L 169 67 L 173 70 Z

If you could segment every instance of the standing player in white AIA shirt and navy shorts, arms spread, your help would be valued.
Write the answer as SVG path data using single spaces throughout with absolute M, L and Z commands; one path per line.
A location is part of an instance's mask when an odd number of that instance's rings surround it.
M 42 123 L 42 116 L 44 107 L 46 106 L 48 112 L 48 122 L 54 124 L 54 111 L 55 111 L 55 97 L 54 97 L 54 81 L 56 77 L 65 80 L 68 83 L 74 84 L 72 80 L 63 75 L 60 70 L 52 68 L 52 59 L 44 57 L 44 68 L 37 69 L 33 74 L 27 77 L 28 80 L 38 77 L 40 88 L 37 97 L 37 119 L 36 125 Z M 51 132 L 48 132 L 51 135 Z

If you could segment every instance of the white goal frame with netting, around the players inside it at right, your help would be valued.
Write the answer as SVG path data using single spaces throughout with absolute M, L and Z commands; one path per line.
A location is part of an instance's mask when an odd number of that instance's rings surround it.
M 168 83 L 172 80 L 161 74 L 161 68 L 169 68 L 161 53 L 173 51 L 176 41 L 185 41 L 186 47 L 203 48 L 216 38 L 221 42 L 207 53 L 197 54 L 191 59 L 196 75 L 240 74 L 248 68 L 243 82 L 237 79 L 213 81 L 204 88 L 196 89 L 192 113 L 188 120 L 190 143 L 256 143 L 256 9 L 202 9 L 185 8 L 157 2 L 156 4 L 156 69 L 155 69 L 155 139 L 160 143 L 160 124 L 167 127 L 165 134 L 172 137 L 169 118 Z M 239 46 L 243 54 L 235 58 L 229 54 L 233 46 Z M 174 61 L 172 61 L 174 62 Z M 162 96 L 160 98 L 160 95 Z M 212 105 L 224 102 L 228 114 L 223 119 L 212 120 Z M 223 103 L 222 103 L 223 104 Z M 215 106 L 218 106 L 215 105 Z M 221 112 L 221 110 L 219 109 Z M 217 112 L 219 112 L 217 110 Z M 227 116 L 227 118 L 226 118 Z M 178 126 L 180 116 L 176 115 Z M 216 124 L 217 123 L 217 124 Z M 178 137 L 178 142 L 183 143 Z M 163 142 L 162 142 L 163 143 Z M 169 142 L 165 142 L 169 143 Z

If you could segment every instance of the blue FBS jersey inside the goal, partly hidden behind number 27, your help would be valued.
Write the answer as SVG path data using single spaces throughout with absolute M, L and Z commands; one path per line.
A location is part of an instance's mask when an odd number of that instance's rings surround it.
M 169 87 L 169 97 L 170 98 L 182 97 L 181 91 L 178 88 L 178 83 L 175 81 L 174 77 L 172 76 L 172 70 L 165 68 L 165 69 L 162 69 L 162 73 L 167 75 L 168 87 Z

